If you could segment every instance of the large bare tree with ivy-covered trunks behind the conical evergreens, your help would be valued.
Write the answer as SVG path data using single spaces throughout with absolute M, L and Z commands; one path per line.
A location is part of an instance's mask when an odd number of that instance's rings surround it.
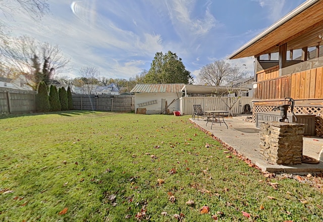
M 68 71 L 70 59 L 58 45 L 36 41 L 27 36 L 1 39 L 4 66 L 24 75 L 25 84 L 36 89 L 40 81 L 48 84 L 55 74 Z M 15 78 L 17 76 L 11 76 Z

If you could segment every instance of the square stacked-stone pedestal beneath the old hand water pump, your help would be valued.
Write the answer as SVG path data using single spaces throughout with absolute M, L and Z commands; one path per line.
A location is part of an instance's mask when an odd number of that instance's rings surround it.
M 302 163 L 305 124 L 264 122 L 260 124 L 260 154 L 273 164 Z

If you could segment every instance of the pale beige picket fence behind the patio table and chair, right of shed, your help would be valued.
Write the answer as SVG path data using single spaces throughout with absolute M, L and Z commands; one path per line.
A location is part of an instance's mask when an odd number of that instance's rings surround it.
M 252 97 L 240 97 L 237 98 L 238 101 L 232 107 L 233 114 L 242 114 L 244 112 L 244 105 L 252 105 Z M 228 106 L 229 97 L 181 97 L 180 98 L 180 111 L 182 115 L 192 115 L 194 113 L 193 105 L 201 105 L 204 110 L 227 110 L 229 111 Z

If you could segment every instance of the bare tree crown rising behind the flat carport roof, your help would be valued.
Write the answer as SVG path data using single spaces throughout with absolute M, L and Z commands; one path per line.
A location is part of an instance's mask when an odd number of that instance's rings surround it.
M 202 85 L 223 86 L 241 79 L 244 75 L 240 68 L 231 66 L 225 60 L 218 60 L 202 67 L 197 76 L 198 82 Z

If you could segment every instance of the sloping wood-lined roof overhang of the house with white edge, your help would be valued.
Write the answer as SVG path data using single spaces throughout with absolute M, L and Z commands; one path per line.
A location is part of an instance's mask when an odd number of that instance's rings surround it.
M 323 31 L 323 0 L 308 0 L 282 19 L 265 29 L 249 42 L 241 46 L 227 59 L 276 52 L 278 47 L 288 42 L 288 48 L 297 49 L 315 46 L 322 40 L 317 36 Z

